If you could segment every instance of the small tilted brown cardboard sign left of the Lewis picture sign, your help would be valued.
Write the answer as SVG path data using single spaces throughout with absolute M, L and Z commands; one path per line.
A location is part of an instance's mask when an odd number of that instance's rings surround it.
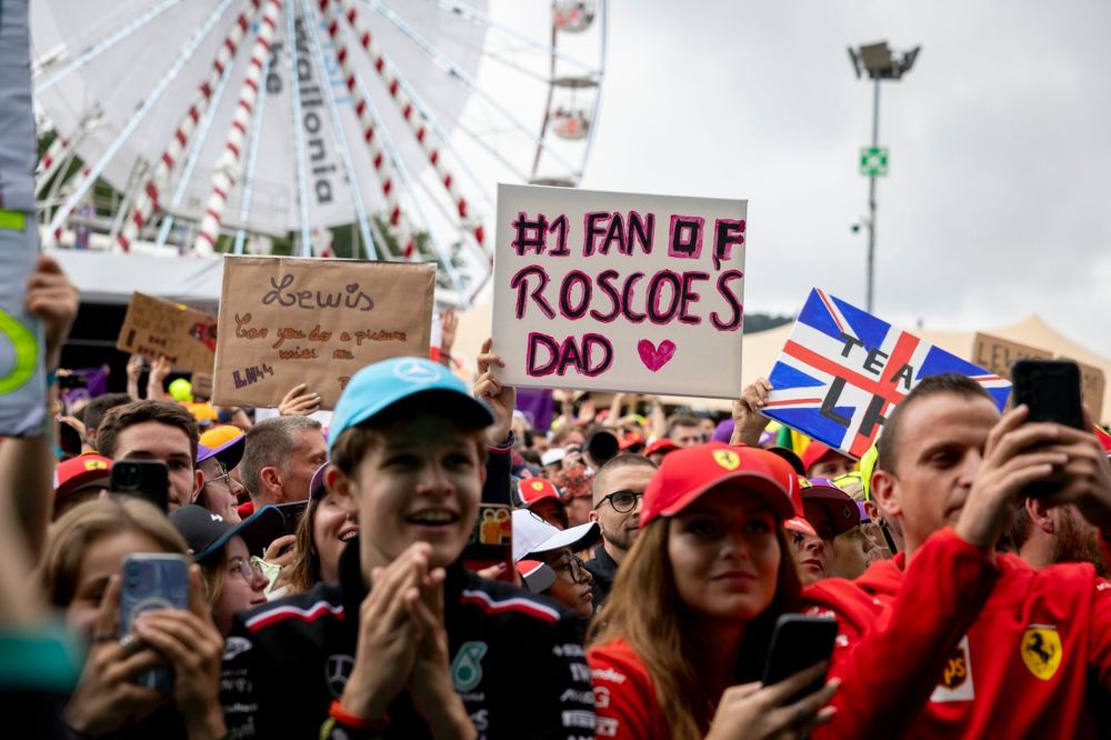
M 131 293 L 116 348 L 150 359 L 164 356 L 176 368 L 212 372 L 216 317 L 181 303 Z

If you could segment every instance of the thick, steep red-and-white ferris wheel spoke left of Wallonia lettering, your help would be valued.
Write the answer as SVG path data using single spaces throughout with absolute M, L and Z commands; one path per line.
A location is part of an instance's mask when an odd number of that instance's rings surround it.
M 217 237 L 220 236 L 220 223 L 223 221 L 223 209 L 228 204 L 228 193 L 242 169 L 246 144 L 250 136 L 251 113 L 259 97 L 259 83 L 262 81 L 262 67 L 270 54 L 270 44 L 278 29 L 280 12 L 280 0 L 266 0 L 262 19 L 259 22 L 259 34 L 254 38 L 251 61 L 247 66 L 247 77 L 239 94 L 239 102 L 236 104 L 231 127 L 228 129 L 228 141 L 212 170 L 212 190 L 206 204 L 200 231 L 193 241 L 193 251 L 200 254 L 211 254 L 216 248 Z

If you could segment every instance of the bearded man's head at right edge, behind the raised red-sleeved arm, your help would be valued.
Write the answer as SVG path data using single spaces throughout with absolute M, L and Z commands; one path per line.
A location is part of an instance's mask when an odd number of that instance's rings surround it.
M 1100 543 L 1100 530 L 1088 523 L 1077 507 L 1048 508 L 1041 499 L 1028 498 L 1014 516 L 1010 542 L 1014 553 L 1032 568 L 1058 562 L 1090 562 L 1095 572 L 1108 578 L 1108 563 Z

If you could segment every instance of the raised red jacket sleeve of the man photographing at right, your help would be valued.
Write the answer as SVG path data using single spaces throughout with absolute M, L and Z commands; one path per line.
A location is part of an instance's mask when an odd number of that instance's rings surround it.
M 849 581 L 809 588 L 811 604 L 839 618 L 830 676 L 842 680 L 831 702 L 837 719 L 813 737 L 903 734 L 998 578 L 988 556 L 944 529 L 914 553 L 893 597 L 873 596 Z

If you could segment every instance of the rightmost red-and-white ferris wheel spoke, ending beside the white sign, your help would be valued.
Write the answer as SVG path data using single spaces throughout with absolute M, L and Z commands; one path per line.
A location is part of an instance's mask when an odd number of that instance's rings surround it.
M 322 2 L 327 2 L 327 0 L 322 0 Z M 443 154 L 440 151 L 441 142 L 438 141 L 438 137 L 422 120 L 422 116 L 419 114 L 408 83 L 398 74 L 394 64 L 382 52 L 379 46 L 374 43 L 374 38 L 359 14 L 356 3 L 352 0 L 339 0 L 339 3 L 343 10 L 343 17 L 351 24 L 356 37 L 359 39 L 359 44 L 370 57 L 374 70 L 382 78 L 382 82 L 386 84 L 386 89 L 389 90 L 391 99 L 397 104 L 398 110 L 401 111 L 401 117 L 409 124 L 417 141 L 428 156 L 428 161 L 436 170 L 437 179 L 448 191 L 448 197 L 459 212 L 459 218 L 463 220 L 467 231 L 474 237 L 479 247 L 486 250 L 486 230 L 482 227 L 482 222 L 471 212 L 467 198 L 459 189 L 458 179 L 448 170 Z

